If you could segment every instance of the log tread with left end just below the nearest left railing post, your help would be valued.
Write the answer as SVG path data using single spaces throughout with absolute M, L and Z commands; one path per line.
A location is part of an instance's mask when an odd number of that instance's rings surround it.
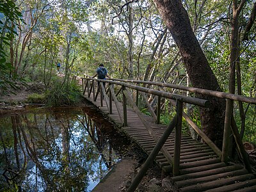
M 195 179 L 195 178 L 199 178 L 199 177 L 207 177 L 209 175 L 216 175 L 216 174 L 219 174 L 219 173 L 230 172 L 230 171 L 234 171 L 234 170 L 240 170 L 242 168 L 243 168 L 243 166 L 241 166 L 240 164 L 226 166 L 225 163 L 216 163 L 216 164 L 211 164 L 211 167 L 208 166 L 207 168 L 205 168 L 205 170 L 202 170 L 202 172 L 195 172 L 195 170 L 194 170 L 192 173 L 171 177 L 170 180 L 173 184 L 174 182 L 177 182 L 179 180 L 187 180 L 187 179 Z

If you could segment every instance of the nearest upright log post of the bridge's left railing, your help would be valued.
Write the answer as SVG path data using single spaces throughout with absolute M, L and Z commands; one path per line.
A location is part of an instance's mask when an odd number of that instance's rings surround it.
M 177 100 L 177 125 L 175 127 L 175 141 L 173 152 L 173 175 L 180 173 L 180 143 L 181 143 L 181 128 L 182 128 L 182 105 L 181 100 Z

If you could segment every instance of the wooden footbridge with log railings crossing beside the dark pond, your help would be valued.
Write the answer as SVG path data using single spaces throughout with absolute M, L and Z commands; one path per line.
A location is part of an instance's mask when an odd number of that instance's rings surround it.
M 235 136 L 237 148 L 243 157 L 244 164 L 227 163 L 225 161 L 227 152 L 221 151 L 216 147 L 182 110 L 183 103 L 207 107 L 208 101 L 164 92 L 163 88 L 178 88 L 189 92 L 204 93 L 227 100 L 239 100 L 252 104 L 256 104 L 256 99 L 148 81 L 99 80 L 90 76 L 82 79 L 84 97 L 98 106 L 116 124 L 120 125 L 127 136 L 138 143 L 148 154 L 147 160 L 140 172 L 132 180 L 132 184 L 127 191 L 135 191 L 153 161 L 164 172 L 171 173 L 171 181 L 175 191 L 256 191 L 256 179 L 252 174 L 248 156 L 239 137 Z M 139 86 L 139 84 L 144 86 Z M 151 87 L 146 88 L 146 84 L 147 86 L 151 85 Z M 145 99 L 151 116 L 144 115 L 138 109 L 139 93 Z M 152 106 L 147 102 L 147 96 L 145 95 L 147 93 L 157 96 L 156 114 Z M 159 124 L 160 104 L 163 98 L 169 99 L 176 106 L 176 115 L 168 126 Z M 194 140 L 188 134 L 182 134 L 182 116 L 201 136 L 204 143 Z M 228 115 L 226 114 L 227 117 Z M 228 118 L 231 119 L 231 116 Z M 225 122 L 227 121 L 225 120 Z M 235 130 L 232 129 L 232 131 L 234 135 L 237 134 Z M 227 140 L 225 134 L 223 140 Z M 223 145 L 225 145 L 225 142 L 223 142 Z

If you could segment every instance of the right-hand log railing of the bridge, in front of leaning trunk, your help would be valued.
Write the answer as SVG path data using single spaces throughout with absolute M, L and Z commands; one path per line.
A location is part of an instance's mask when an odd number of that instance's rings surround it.
M 136 81 L 136 80 L 129 80 L 129 79 L 112 79 L 112 80 L 122 81 L 122 82 L 126 82 L 126 83 L 155 85 L 155 86 L 158 86 L 160 89 L 161 89 L 161 87 L 175 88 L 177 90 L 184 90 L 184 91 L 191 92 L 191 93 L 200 93 L 200 94 L 203 94 L 203 95 L 210 95 L 210 96 L 213 96 L 213 97 L 226 99 L 225 125 L 224 125 L 224 134 L 223 134 L 223 150 L 222 150 L 222 152 L 221 151 L 216 152 L 216 150 L 214 150 L 214 148 L 212 148 L 212 149 L 219 156 L 220 156 L 220 152 L 221 152 L 221 161 L 227 163 L 228 153 L 229 153 L 228 143 L 229 143 L 230 132 L 231 132 L 230 129 L 232 129 L 232 133 L 233 133 L 234 138 L 236 140 L 236 144 L 237 144 L 237 148 L 239 150 L 239 154 L 241 155 L 241 157 L 243 157 L 243 163 L 244 163 L 246 169 L 249 172 L 252 172 L 251 167 L 250 167 L 250 162 L 249 162 L 249 159 L 248 159 L 248 154 L 244 150 L 243 142 L 242 142 L 241 137 L 239 135 L 239 131 L 238 131 L 237 126 L 236 126 L 236 122 L 234 121 L 234 118 L 232 116 L 232 111 L 230 111 L 228 109 L 230 109 L 230 105 L 233 104 L 233 102 L 230 102 L 230 100 L 234 100 L 234 101 L 236 100 L 236 101 L 239 101 L 239 102 L 246 102 L 248 104 L 256 104 L 256 98 L 245 97 L 245 96 L 242 96 L 242 95 L 236 95 L 236 94 L 232 94 L 232 93 L 216 92 L 216 91 L 205 90 L 205 89 L 201 89 L 201 88 L 193 88 L 193 87 L 182 86 L 182 85 L 177 85 L 177 84 L 158 83 L 158 82 L 152 82 L 152 81 Z M 203 138 L 203 140 L 210 147 L 212 147 L 211 142 L 209 143 L 209 142 L 206 141 L 209 138 L 205 137 L 202 134 L 202 131 L 198 127 L 196 127 L 196 125 L 193 124 L 193 122 L 191 122 L 191 120 L 189 119 L 189 117 L 186 114 L 184 114 L 184 118 L 191 125 L 191 127 L 193 127 L 193 129 L 195 129 L 195 131 Z

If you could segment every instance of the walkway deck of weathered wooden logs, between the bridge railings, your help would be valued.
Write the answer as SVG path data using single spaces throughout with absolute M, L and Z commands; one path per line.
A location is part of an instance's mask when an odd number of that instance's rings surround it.
M 104 102 L 103 107 L 100 107 L 99 97 L 96 101 L 93 101 L 92 95 L 88 98 L 87 93 L 85 93 L 84 97 L 122 127 L 115 104 L 113 104 L 113 113 L 109 114 L 106 102 Z M 122 103 L 119 103 L 119 105 L 122 110 Z M 150 123 L 157 136 L 160 137 L 167 126 L 156 124 L 151 116 L 143 116 Z M 127 119 L 128 126 L 122 127 L 122 130 L 147 154 L 150 154 L 156 142 L 150 136 L 138 115 L 129 107 L 127 107 Z M 171 155 L 173 155 L 174 150 L 174 137 L 174 133 L 172 133 L 164 144 Z M 180 175 L 171 178 L 176 191 L 256 191 L 256 179 L 252 173 L 248 173 L 239 164 L 221 163 L 220 157 L 204 143 L 182 134 L 180 148 Z M 164 172 L 172 172 L 172 166 L 162 152 L 159 152 L 155 161 Z

